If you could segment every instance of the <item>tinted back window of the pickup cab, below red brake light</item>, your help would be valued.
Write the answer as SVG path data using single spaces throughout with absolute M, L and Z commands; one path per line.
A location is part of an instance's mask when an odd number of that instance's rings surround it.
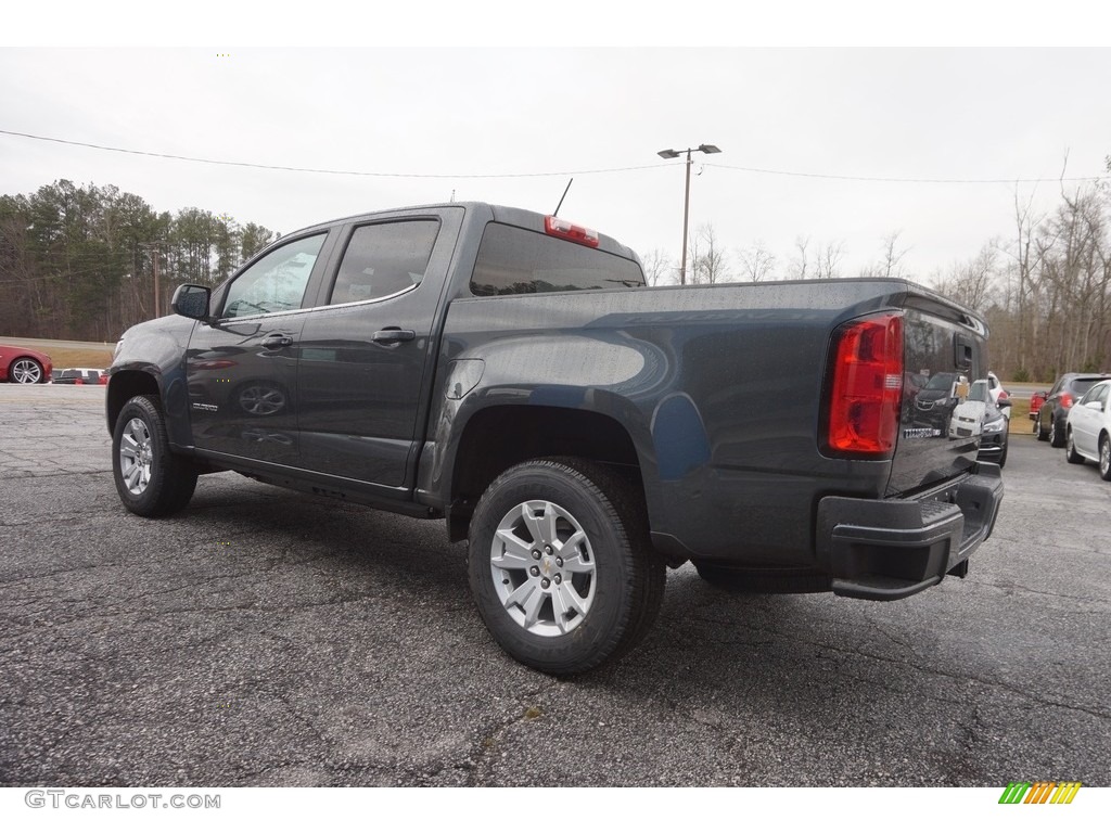
M 476 295 L 643 285 L 644 273 L 631 260 L 500 223 L 487 225 L 471 275 Z

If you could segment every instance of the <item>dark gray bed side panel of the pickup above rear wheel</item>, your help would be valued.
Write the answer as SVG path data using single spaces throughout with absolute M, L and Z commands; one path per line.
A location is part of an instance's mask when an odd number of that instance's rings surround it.
M 456 301 L 422 486 L 450 502 L 459 438 L 484 408 L 587 409 L 631 436 L 658 546 L 807 565 L 817 501 L 882 496 L 891 473 L 819 451 L 830 334 L 908 294 L 903 281 L 807 281 Z M 452 399 L 453 369 L 474 367 L 462 360 L 483 370 Z

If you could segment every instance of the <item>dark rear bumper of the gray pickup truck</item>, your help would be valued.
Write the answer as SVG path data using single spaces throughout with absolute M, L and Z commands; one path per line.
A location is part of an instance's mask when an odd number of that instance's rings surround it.
M 1003 499 L 994 463 L 904 500 L 823 498 L 818 555 L 837 595 L 893 601 L 963 575 L 968 558 L 991 534 Z

